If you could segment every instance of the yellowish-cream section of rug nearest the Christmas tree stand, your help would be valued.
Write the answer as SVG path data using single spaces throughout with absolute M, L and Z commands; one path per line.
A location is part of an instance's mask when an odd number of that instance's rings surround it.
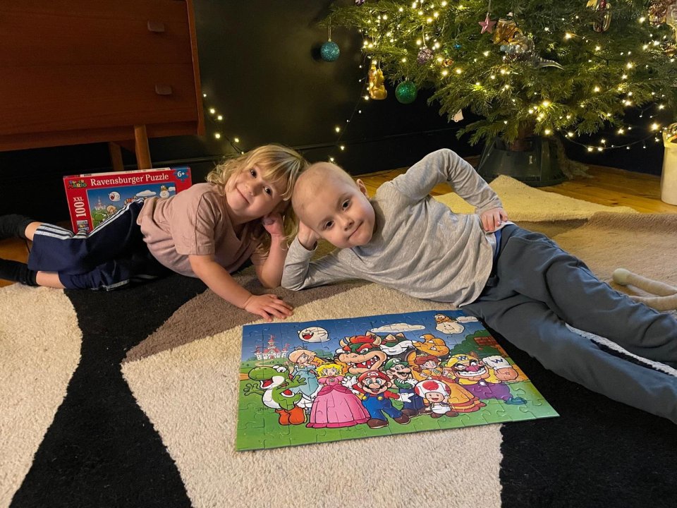
M 492 189 L 499 195 L 508 216 L 513 222 L 520 221 L 561 221 L 588 219 L 596 212 L 636 213 L 629 207 L 608 207 L 567 196 L 539 191 L 501 175 L 491 183 Z M 456 193 L 436 196 L 440 202 L 457 213 L 474 213 L 475 207 L 468 205 Z

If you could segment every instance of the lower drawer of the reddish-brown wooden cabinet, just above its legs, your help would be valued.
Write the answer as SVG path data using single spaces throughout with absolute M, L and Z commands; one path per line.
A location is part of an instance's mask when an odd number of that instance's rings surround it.
M 39 66 L 0 80 L 0 135 L 197 121 L 192 63 Z M 51 83 L 45 87 L 44 83 Z M 161 95 L 170 92 L 169 95 Z

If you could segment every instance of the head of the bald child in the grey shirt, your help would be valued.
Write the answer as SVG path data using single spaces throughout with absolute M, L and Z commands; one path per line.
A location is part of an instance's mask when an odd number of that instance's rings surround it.
M 293 206 L 303 224 L 338 248 L 363 246 L 374 234 L 367 188 L 334 164 L 313 164 L 300 177 Z

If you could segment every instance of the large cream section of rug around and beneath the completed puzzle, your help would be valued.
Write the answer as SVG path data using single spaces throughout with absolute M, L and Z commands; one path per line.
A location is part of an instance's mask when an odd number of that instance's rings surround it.
M 293 320 L 338 319 L 349 309 L 367 316 L 437 306 L 367 284 L 298 306 Z M 501 425 L 236 452 L 238 425 L 246 427 L 238 422 L 241 341 L 236 326 L 122 365 L 194 507 L 224 500 L 238 508 L 355 507 L 379 500 L 380 506 L 451 508 L 459 506 L 458 492 L 463 500 L 481 499 L 482 508 L 501 506 Z M 458 459 L 458 450 L 478 446 L 481 459 Z

